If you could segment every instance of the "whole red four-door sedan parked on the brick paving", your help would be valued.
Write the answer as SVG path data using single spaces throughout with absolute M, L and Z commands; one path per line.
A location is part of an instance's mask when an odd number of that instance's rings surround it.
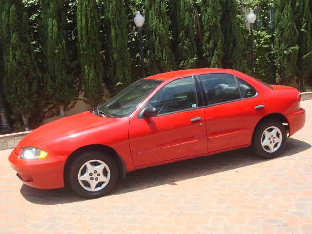
M 193 69 L 138 80 L 92 111 L 29 133 L 9 156 L 23 183 L 111 192 L 140 168 L 249 147 L 278 156 L 305 123 L 301 95 L 228 69 Z

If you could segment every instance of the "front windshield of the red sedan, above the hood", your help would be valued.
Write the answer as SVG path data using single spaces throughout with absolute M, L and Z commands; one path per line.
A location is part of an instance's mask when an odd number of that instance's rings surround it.
M 97 107 L 95 114 L 110 118 L 121 118 L 130 114 L 162 81 L 140 79 L 122 90 L 115 97 Z M 98 111 L 98 112 L 97 112 Z

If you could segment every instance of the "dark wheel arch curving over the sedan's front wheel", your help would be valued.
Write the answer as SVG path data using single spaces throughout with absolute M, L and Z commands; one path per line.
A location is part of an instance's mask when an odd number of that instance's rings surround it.
M 126 164 L 124 163 L 123 159 L 121 156 L 118 155 L 117 151 L 114 150 L 112 147 L 109 147 L 107 145 L 100 145 L 100 144 L 93 144 L 93 145 L 85 145 L 82 146 L 76 150 L 74 150 L 66 159 L 65 165 L 64 165 L 64 171 L 63 171 L 63 176 L 64 176 L 64 183 L 67 183 L 67 172 L 70 164 L 72 161 L 75 159 L 75 157 L 85 151 L 89 150 L 99 150 L 105 153 L 108 153 L 112 156 L 114 160 L 117 162 L 118 170 L 119 170 L 119 176 L 124 179 L 127 173 L 127 168 Z

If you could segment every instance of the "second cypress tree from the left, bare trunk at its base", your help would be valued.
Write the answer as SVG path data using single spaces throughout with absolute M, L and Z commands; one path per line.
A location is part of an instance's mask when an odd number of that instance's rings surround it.
M 41 0 L 45 92 L 61 117 L 74 99 L 74 76 L 67 56 L 67 19 L 64 0 Z

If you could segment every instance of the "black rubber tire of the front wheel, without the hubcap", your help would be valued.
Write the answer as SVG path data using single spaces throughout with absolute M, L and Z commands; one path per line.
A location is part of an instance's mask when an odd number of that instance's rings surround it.
M 99 160 L 104 162 L 110 172 L 109 181 L 106 183 L 105 187 L 103 187 L 98 191 L 86 190 L 84 187 L 82 187 L 78 179 L 80 168 L 90 160 Z M 95 198 L 109 194 L 114 189 L 117 180 L 118 180 L 118 166 L 116 160 L 114 160 L 112 156 L 110 156 L 109 154 L 101 151 L 93 150 L 78 155 L 77 158 L 75 158 L 74 161 L 71 163 L 68 171 L 68 182 L 70 187 L 76 194 L 86 198 Z

